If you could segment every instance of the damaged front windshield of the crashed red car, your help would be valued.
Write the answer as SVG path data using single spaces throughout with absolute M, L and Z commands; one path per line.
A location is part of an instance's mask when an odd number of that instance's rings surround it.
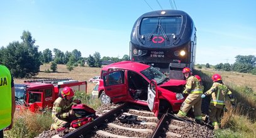
M 161 73 L 159 70 L 153 68 L 153 66 L 150 66 L 146 70 L 143 70 L 141 72 L 145 77 L 148 78 L 148 80 L 155 80 L 157 83 L 162 83 L 164 82 L 167 78 L 163 73 Z

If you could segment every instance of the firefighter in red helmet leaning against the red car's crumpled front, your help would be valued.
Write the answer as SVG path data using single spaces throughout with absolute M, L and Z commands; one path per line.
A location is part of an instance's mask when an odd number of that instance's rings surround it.
M 202 114 L 201 114 L 201 95 L 203 91 L 201 85 L 196 77 L 192 75 L 190 68 L 183 68 L 182 73 L 186 77 L 186 89 L 183 91 L 184 94 L 189 94 L 186 100 L 182 103 L 181 109 L 179 110 L 177 116 L 184 118 L 187 115 L 187 112 L 194 106 L 194 115 L 196 122 L 203 124 Z

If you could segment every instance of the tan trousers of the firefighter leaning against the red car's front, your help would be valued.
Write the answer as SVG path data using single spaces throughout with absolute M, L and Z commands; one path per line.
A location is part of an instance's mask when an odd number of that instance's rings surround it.
M 202 120 L 201 104 L 202 93 L 191 93 L 187 96 L 186 100 L 182 103 L 181 109 L 178 112 L 178 117 L 186 117 L 187 112 L 194 106 L 194 115 L 197 120 Z

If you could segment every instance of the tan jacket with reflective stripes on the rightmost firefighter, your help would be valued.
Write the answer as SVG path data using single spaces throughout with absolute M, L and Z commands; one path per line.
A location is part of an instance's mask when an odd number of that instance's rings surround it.
M 206 92 L 204 95 L 211 95 L 211 104 L 216 108 L 223 108 L 225 105 L 225 96 L 228 95 L 230 97 L 231 104 L 235 102 L 231 91 L 224 85 L 223 83 L 214 82 L 213 86 Z

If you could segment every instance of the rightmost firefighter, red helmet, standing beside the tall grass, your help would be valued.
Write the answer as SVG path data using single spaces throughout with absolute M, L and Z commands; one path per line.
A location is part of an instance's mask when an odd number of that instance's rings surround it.
M 209 119 L 214 127 L 214 130 L 220 129 L 221 112 L 225 105 L 225 96 L 230 97 L 231 105 L 235 106 L 235 99 L 231 91 L 223 84 L 221 75 L 214 74 L 211 79 L 213 80 L 213 86 L 205 92 L 201 97 L 204 98 L 211 95 L 211 103 L 209 105 Z

